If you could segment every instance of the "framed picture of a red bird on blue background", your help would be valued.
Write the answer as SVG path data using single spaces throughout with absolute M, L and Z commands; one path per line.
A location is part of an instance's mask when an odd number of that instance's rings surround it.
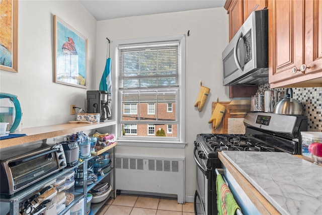
M 54 15 L 54 82 L 87 88 L 87 38 Z

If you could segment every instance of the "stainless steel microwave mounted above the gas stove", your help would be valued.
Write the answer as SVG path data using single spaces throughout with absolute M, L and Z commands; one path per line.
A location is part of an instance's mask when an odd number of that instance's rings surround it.
M 268 10 L 254 11 L 222 52 L 223 86 L 268 83 Z

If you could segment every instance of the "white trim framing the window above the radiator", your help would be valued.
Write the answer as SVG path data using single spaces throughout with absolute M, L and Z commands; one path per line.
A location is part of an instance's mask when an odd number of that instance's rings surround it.
M 129 44 L 129 43 L 144 43 L 144 42 L 155 42 L 155 41 L 171 41 L 171 40 L 179 40 L 180 41 L 180 49 L 179 49 L 179 74 L 181 76 L 181 79 L 179 80 L 180 85 L 181 85 L 181 90 L 179 93 L 179 103 L 176 108 L 178 108 L 179 114 L 179 121 L 180 123 L 178 124 L 178 137 L 179 138 L 167 138 L 165 139 L 156 139 L 153 138 L 153 140 L 149 139 L 142 139 L 142 138 L 136 138 L 133 140 L 127 139 L 127 138 L 122 138 L 118 136 L 118 142 L 120 146 L 132 146 L 132 147 L 157 147 L 157 148 L 180 148 L 183 149 L 185 146 L 188 144 L 185 141 L 185 135 L 186 135 L 186 129 L 185 129 L 185 114 L 186 114 L 186 109 L 185 109 L 185 95 L 186 95 L 186 38 L 185 35 L 177 35 L 177 36 L 166 36 L 166 37 L 152 37 L 152 38 L 139 38 L 139 39 L 126 39 L 126 40 L 117 40 L 113 41 L 111 43 L 111 55 L 114 56 L 114 59 L 112 61 L 112 67 L 114 67 L 114 86 L 113 86 L 113 92 L 118 92 L 118 52 L 117 48 L 119 45 L 122 44 Z M 113 77 L 113 76 L 112 76 Z M 118 102 L 118 96 L 116 94 L 112 95 L 113 99 L 115 101 L 115 115 L 118 116 L 119 113 L 122 113 L 122 107 L 120 107 L 119 102 Z M 182 106 L 182 107 L 181 107 Z M 117 124 L 119 119 L 116 119 Z M 115 126 L 115 133 L 119 134 L 120 132 L 120 126 Z

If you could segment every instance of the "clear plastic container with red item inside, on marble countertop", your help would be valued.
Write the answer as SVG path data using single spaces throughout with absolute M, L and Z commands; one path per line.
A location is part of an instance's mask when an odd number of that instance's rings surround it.
M 302 131 L 302 157 L 322 166 L 322 132 Z

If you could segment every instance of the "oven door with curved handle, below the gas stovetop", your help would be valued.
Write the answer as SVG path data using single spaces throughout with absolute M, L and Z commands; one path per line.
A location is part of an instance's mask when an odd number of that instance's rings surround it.
M 194 200 L 194 208 L 195 214 L 203 214 L 208 215 L 210 214 L 210 188 L 208 187 L 208 179 L 207 175 L 209 174 L 209 170 L 206 167 L 206 163 L 204 159 L 199 158 L 199 154 L 202 151 L 198 150 L 195 146 L 194 149 L 194 159 L 197 164 L 197 190 L 195 193 L 195 200 Z

